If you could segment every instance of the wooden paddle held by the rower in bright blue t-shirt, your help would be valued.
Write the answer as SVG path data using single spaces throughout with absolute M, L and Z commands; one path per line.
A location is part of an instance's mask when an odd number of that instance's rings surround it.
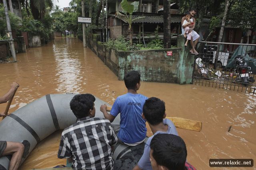
M 110 111 L 112 107 L 107 106 L 107 111 Z M 200 121 L 195 121 L 191 119 L 185 119 L 181 117 L 166 117 L 170 119 L 175 127 L 180 128 L 180 129 L 187 129 L 191 131 L 198 131 L 200 132 L 202 130 L 202 122 Z

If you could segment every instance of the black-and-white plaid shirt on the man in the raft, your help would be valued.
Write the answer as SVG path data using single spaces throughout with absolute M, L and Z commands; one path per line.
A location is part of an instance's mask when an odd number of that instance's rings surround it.
M 62 132 L 58 158 L 72 157 L 75 170 L 113 170 L 117 140 L 109 120 L 84 117 Z

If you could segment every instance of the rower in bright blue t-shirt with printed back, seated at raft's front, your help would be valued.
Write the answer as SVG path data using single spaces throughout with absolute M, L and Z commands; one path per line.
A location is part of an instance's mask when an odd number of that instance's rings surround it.
M 118 139 L 129 146 L 136 146 L 146 138 L 146 120 L 142 118 L 142 108 L 147 99 L 146 96 L 138 94 L 140 88 L 140 73 L 130 71 L 124 76 L 124 83 L 128 92 L 118 96 L 110 111 L 106 111 L 106 104 L 100 106 L 100 111 L 110 122 L 114 121 L 116 116 L 120 115 L 120 130 Z

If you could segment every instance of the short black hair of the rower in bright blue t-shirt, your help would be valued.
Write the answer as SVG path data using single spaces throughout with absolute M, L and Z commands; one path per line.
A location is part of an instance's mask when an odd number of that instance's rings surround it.
M 136 84 L 140 84 L 140 73 L 138 71 L 130 71 L 124 76 L 124 84 L 127 89 L 134 89 Z

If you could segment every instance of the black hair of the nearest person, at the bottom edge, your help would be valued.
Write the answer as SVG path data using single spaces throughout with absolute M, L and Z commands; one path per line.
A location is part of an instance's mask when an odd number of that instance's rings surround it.
M 156 163 L 168 170 L 184 170 L 187 157 L 186 144 L 179 136 L 158 133 L 150 143 Z

